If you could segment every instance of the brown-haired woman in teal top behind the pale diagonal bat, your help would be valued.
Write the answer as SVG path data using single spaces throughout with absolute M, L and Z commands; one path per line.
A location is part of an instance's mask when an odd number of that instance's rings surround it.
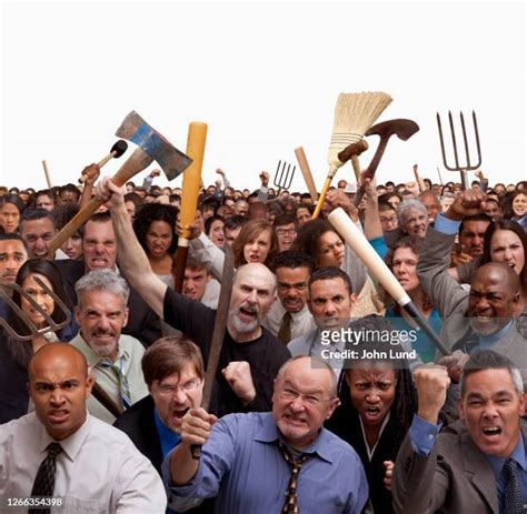
M 434 309 L 428 296 L 422 291 L 417 275 L 417 263 L 419 261 L 419 250 L 422 240 L 406 236 L 398 240 L 388 251 L 386 263 L 394 273 L 395 278 L 408 293 L 414 305 L 419 310 L 422 316 L 434 329 L 436 334 L 441 330 L 441 319 L 439 312 Z M 390 299 L 387 298 L 387 303 Z M 399 330 L 409 333 L 411 330 L 412 339 L 411 347 L 417 351 L 422 362 L 432 362 L 436 354 L 434 342 L 424 332 L 418 331 L 417 324 L 411 316 L 401 309 L 397 303 L 391 301 L 391 305 L 386 310 L 385 316 L 389 319 L 391 324 Z

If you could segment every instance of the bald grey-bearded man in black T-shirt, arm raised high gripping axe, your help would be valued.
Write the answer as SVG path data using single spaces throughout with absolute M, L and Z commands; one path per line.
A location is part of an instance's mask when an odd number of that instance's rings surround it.
M 207 365 L 216 311 L 176 293 L 152 272 L 120 188 L 103 179 L 96 194 L 110 210 L 119 265 L 129 283 L 165 322 L 198 344 Z M 275 299 L 276 278 L 264 264 L 246 264 L 237 271 L 211 402 L 215 414 L 270 410 L 272 381 L 290 356 L 260 324 Z

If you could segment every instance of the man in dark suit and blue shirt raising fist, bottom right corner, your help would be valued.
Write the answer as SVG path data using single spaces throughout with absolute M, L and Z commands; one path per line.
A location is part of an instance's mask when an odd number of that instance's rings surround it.
M 397 513 L 527 512 L 527 425 L 521 376 L 505 356 L 481 350 L 461 376 L 460 421 L 441 427 L 450 379 L 444 367 L 414 372 L 418 411 L 394 467 Z

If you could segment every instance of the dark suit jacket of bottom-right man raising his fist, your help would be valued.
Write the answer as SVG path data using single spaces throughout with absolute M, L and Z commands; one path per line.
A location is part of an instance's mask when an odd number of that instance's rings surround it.
M 521 433 L 525 440 L 524 421 Z M 394 467 L 391 494 L 397 513 L 499 512 L 493 468 L 463 422 L 447 426 L 426 457 L 414 452 L 406 436 Z

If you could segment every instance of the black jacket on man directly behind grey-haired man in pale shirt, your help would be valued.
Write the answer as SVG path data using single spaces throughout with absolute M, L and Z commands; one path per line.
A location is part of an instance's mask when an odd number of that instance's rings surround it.
M 77 305 L 74 284 L 84 275 L 84 261 L 71 259 L 54 261 L 63 279 L 63 286 L 73 305 Z M 128 299 L 128 324 L 122 329 L 123 334 L 138 339 L 145 346 L 150 346 L 162 336 L 159 316 L 139 296 L 136 290 L 130 288 Z

